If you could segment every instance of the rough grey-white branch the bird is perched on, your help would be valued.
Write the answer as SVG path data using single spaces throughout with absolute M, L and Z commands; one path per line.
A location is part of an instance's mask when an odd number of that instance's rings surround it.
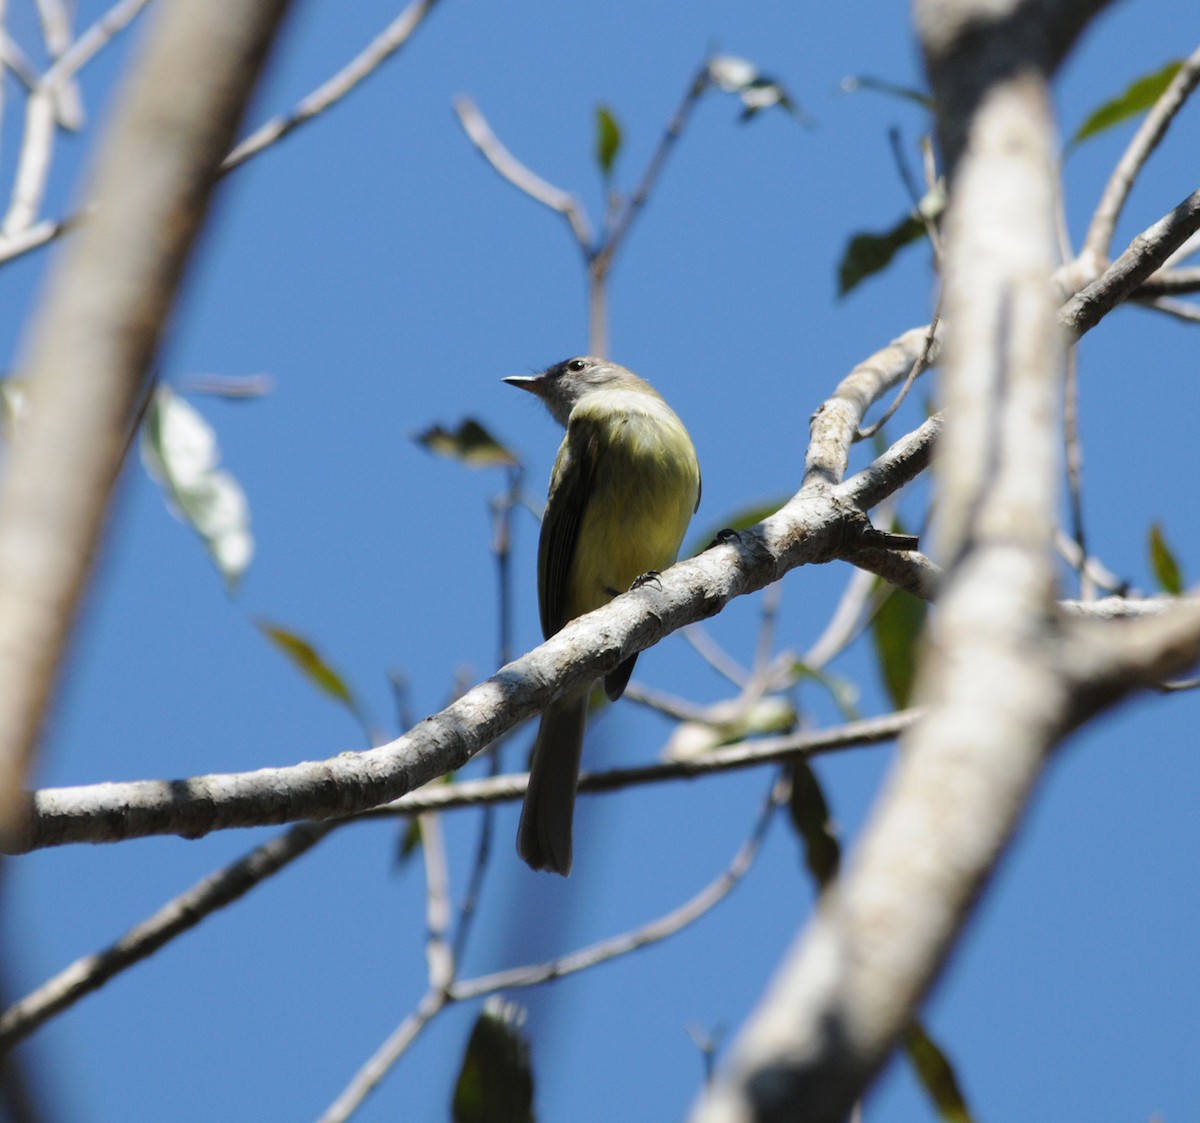
M 403 737 L 367 752 L 175 781 L 136 781 L 41 792 L 29 798 L 16 849 L 154 834 L 196 837 L 228 827 L 365 811 L 461 768 L 552 697 L 592 680 L 634 651 L 764 588 L 797 565 L 851 556 L 869 535 L 835 490 L 802 490 L 755 532 L 672 566 L 660 581 L 581 617 Z

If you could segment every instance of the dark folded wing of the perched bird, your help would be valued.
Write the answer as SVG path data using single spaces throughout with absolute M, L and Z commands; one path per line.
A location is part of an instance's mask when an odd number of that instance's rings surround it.
M 568 582 L 592 496 L 598 440 L 599 428 L 593 421 L 572 416 L 550 478 L 550 499 L 538 542 L 538 607 L 541 633 L 547 639 L 571 619 Z

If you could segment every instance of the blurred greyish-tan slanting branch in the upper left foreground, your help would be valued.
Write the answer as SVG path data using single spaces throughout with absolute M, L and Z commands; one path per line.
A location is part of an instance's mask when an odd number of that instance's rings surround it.
M 130 418 L 217 169 L 287 0 L 158 13 L 26 364 L 30 408 L 0 486 L 0 831 L 97 548 Z

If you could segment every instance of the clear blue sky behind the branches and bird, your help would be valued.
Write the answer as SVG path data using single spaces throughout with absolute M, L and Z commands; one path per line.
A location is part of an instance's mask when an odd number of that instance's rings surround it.
M 82 4 L 95 18 L 102 6 Z M 32 49 L 14 6 L 11 29 Z M 289 108 L 398 6 L 300 4 L 252 110 Z M 847 74 L 920 83 L 907 6 L 764 2 L 508 5 L 443 0 L 403 54 L 326 116 L 224 184 L 163 352 L 163 377 L 265 372 L 253 402 L 192 398 L 253 512 L 257 556 L 226 595 L 194 536 L 167 515 L 140 466 L 122 481 L 112 530 L 44 747 L 40 782 L 186 776 L 319 759 L 361 747 L 252 621 L 314 642 L 395 729 L 388 672 L 420 715 L 456 677 L 494 665 L 497 597 L 488 499 L 498 473 L 431 457 L 412 436 L 470 415 L 517 449 L 534 498 L 559 439 L 528 395 L 499 379 L 582 352 L 578 254 L 565 226 L 503 184 L 451 110 L 469 94 L 530 168 L 576 192 L 595 221 L 595 106 L 610 106 L 629 186 L 709 49 L 781 80 L 816 126 L 768 113 L 737 121 L 709 95 L 641 215 L 612 278 L 612 355 L 652 379 L 688 424 L 704 474 L 697 528 L 799 484 L 808 419 L 838 379 L 929 317 L 929 254 L 916 246 L 846 300 L 847 238 L 907 208 L 887 132 L 910 151 L 914 107 L 838 92 Z M 1057 86 L 1064 133 L 1128 80 L 1194 43 L 1177 6 L 1116 6 Z M 137 34 L 85 72 L 103 120 Z M 8 106 L 0 157 L 18 133 Z M 1123 218 L 1117 245 L 1195 184 L 1195 108 L 1172 127 Z M 1130 128 L 1073 154 L 1066 211 L 1081 238 Z M 61 143 L 48 212 L 78 193 L 96 132 Z M 52 252 L 0 269 L 0 342 L 19 364 L 22 329 Z M 1200 530 L 1182 481 L 1194 474 L 1200 404 L 1196 329 L 1121 310 L 1081 347 L 1085 508 L 1105 563 L 1152 587 L 1146 529 L 1163 521 L 1186 573 Z M 911 403 L 892 432 L 914 424 Z M 899 422 L 899 425 L 896 424 Z M 858 454 L 864 455 L 862 451 Z M 906 508 L 920 517 L 920 496 Z M 516 524 L 516 645 L 539 639 L 536 526 Z M 779 644 L 820 633 L 850 571 L 784 582 Z M 752 657 L 761 602 L 734 603 L 713 635 Z M 887 707 L 866 645 L 834 669 Z M 700 702 L 731 689 L 672 637 L 637 678 Z M 802 691 L 805 717 L 836 720 Z M 1200 1112 L 1200 905 L 1188 888 L 1200 827 L 1200 759 L 1189 695 L 1135 701 L 1078 734 L 1051 763 L 926 1023 L 980 1118 L 1194 1118 Z M 606 711 L 586 765 L 654 759 L 670 726 L 632 703 Z M 532 731 L 508 750 L 518 768 Z M 852 841 L 894 747 L 818 762 Z M 463 971 L 535 961 L 634 927 L 714 877 L 750 831 L 769 776 L 582 798 L 569 881 L 528 872 L 498 841 Z M 445 816 L 461 894 L 473 813 Z M 20 992 L 97 950 L 199 877 L 274 831 L 199 842 L 74 847 L 10 863 L 6 947 Z M 397 870 L 396 828 L 344 829 L 22 1049 L 56 1117 L 179 1121 L 312 1118 L 402 1020 L 425 985 L 419 865 Z M 797 841 L 776 822 L 756 867 L 679 937 L 550 986 L 510 995 L 527 1031 L 544 1121 L 679 1118 L 702 1075 L 686 1027 L 728 1033 L 745 1017 L 812 905 Z M 478 1007 L 439 1017 L 359 1118 L 439 1119 Z M 164 1107 L 169 1105 L 169 1109 Z M 932 1118 L 904 1065 L 866 1106 L 871 1123 Z

